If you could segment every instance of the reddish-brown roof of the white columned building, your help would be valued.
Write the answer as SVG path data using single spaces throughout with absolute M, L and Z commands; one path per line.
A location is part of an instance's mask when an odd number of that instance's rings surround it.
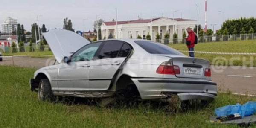
M 158 20 L 160 18 L 154 18 L 152 21 Z M 172 18 L 168 18 L 173 20 Z M 182 18 L 175 18 L 175 21 L 194 21 L 190 19 L 182 19 Z M 140 19 L 140 20 L 130 20 L 130 21 L 118 21 L 117 24 L 129 24 L 129 23 L 150 23 L 151 19 Z M 111 25 L 116 25 L 116 21 L 109 21 L 109 22 L 104 22 L 106 26 L 111 26 Z

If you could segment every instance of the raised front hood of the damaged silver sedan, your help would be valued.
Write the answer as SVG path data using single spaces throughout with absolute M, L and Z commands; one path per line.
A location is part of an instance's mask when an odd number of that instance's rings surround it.
M 76 52 L 90 43 L 75 32 L 64 29 L 51 29 L 49 32 L 43 33 L 43 36 L 59 63 L 61 63 L 64 56 L 70 56 L 72 52 Z

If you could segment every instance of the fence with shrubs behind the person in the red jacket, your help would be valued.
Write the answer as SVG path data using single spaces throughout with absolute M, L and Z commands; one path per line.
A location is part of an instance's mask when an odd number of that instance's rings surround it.
M 216 35 L 216 36 L 203 36 L 198 37 L 198 43 L 207 42 L 221 42 L 221 41 L 243 41 L 243 40 L 255 40 L 256 34 L 239 34 L 239 35 Z M 175 38 L 175 39 L 160 39 L 155 40 L 162 44 L 185 44 L 185 39 Z

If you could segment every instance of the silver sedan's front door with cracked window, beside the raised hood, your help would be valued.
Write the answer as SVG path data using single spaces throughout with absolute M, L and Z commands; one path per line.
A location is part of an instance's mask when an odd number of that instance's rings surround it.
M 90 62 L 101 42 L 88 44 L 71 56 L 70 63 L 60 64 L 58 70 L 58 90 L 89 90 L 88 71 Z

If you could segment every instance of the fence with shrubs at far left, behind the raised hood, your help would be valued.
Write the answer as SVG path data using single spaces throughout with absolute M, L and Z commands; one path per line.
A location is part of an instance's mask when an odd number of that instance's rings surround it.
M 2 48 L 3 49 L 3 48 Z M 17 53 L 17 52 L 44 52 L 44 51 L 51 51 L 48 45 L 44 46 L 24 46 L 24 47 L 4 47 L 3 51 L 5 53 Z

